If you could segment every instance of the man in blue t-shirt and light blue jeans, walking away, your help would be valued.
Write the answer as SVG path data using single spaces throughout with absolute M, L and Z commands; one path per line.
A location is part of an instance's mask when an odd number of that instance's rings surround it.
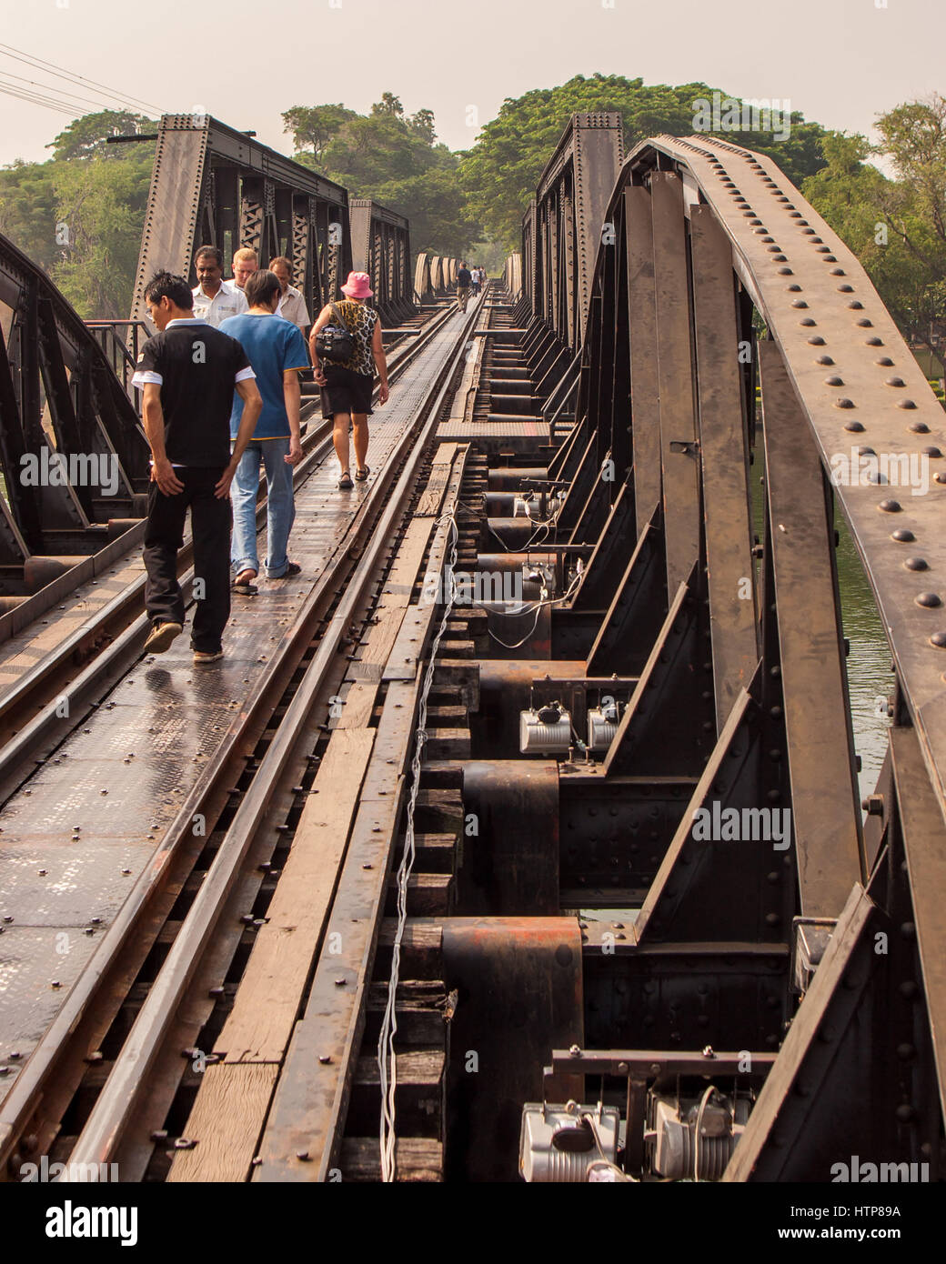
M 298 565 L 288 560 L 286 547 L 296 516 L 292 466 L 302 460 L 298 374 L 309 368 L 309 354 L 298 329 L 274 315 L 282 298 L 282 287 L 273 272 L 254 272 L 247 281 L 245 295 L 249 311 L 223 321 L 220 332 L 235 337 L 243 346 L 263 397 L 257 428 L 236 466 L 230 488 L 234 592 L 250 594 L 255 592 L 253 580 L 259 574 L 257 492 L 261 460 L 267 485 L 267 578 L 283 579 L 300 571 Z M 242 413 L 243 401 L 234 398 L 230 415 L 230 435 L 234 439 Z

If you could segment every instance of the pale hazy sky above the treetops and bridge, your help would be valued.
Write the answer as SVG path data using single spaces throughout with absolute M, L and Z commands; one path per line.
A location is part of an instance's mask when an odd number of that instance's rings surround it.
M 0 43 L 166 112 L 205 109 L 285 152 L 292 105 L 367 111 L 391 91 L 407 112 L 431 109 L 439 138 L 463 149 L 470 106 L 482 125 L 506 96 L 596 71 L 788 99 L 847 131 L 946 92 L 946 0 L 0 0 Z M 8 56 L 0 75 L 83 95 Z M 48 157 L 70 118 L 0 95 L 0 164 Z

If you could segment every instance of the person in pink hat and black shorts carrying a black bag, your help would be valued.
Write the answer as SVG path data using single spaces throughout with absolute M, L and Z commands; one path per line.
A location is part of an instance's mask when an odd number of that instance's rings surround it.
M 381 378 L 378 404 L 387 403 L 391 392 L 387 384 L 387 359 L 381 340 L 381 321 L 377 311 L 367 303 L 374 293 L 371 288 L 371 277 L 367 272 L 349 272 L 348 281 L 341 286 L 341 293 L 348 296 L 347 301 L 328 303 L 319 312 L 319 319 L 309 334 L 309 349 L 312 355 L 315 380 L 322 388 L 322 417 L 331 417 L 334 421 L 331 439 L 341 468 L 339 488 L 347 492 L 354 487 L 348 464 L 349 422 L 354 431 L 355 479 L 363 483 L 371 474 L 366 456 L 374 369 Z M 319 334 L 329 324 L 343 325 L 354 339 L 354 353 L 347 360 L 335 363 L 321 360 L 319 356 Z

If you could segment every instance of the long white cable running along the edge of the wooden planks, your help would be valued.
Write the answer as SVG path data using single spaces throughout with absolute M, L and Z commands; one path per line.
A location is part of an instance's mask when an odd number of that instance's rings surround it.
M 381 1034 L 378 1035 L 378 1074 L 381 1078 L 381 1179 L 384 1183 L 395 1179 L 395 1144 L 397 1139 L 395 1133 L 395 1095 L 397 1091 L 397 1055 L 395 1054 L 395 1035 L 397 1034 L 397 983 L 401 973 L 401 939 L 407 923 L 407 881 L 411 876 L 411 870 L 414 868 L 415 857 L 414 811 L 417 803 L 417 794 L 420 791 L 424 743 L 427 739 L 425 728 L 427 719 L 427 695 L 430 694 L 430 686 L 434 683 L 436 653 L 440 648 L 443 635 L 446 631 L 446 622 L 450 618 L 450 612 L 453 611 L 454 599 L 457 597 L 454 566 L 457 564 L 457 541 L 459 538 L 459 532 L 457 530 L 457 518 L 454 514 L 455 509 L 452 509 L 449 513 L 445 513 L 438 520 L 438 526 L 448 523 L 450 530 L 450 556 L 445 566 L 450 581 L 444 604 L 444 617 L 440 621 L 440 627 L 438 628 L 436 636 L 434 637 L 434 642 L 430 647 L 427 670 L 424 675 L 424 685 L 421 688 L 420 704 L 417 707 L 417 732 L 415 734 L 414 758 L 411 760 L 411 793 L 405 813 L 403 853 L 401 856 L 401 863 L 397 868 L 397 930 L 395 932 L 395 947 L 391 954 L 391 977 L 387 985 L 387 1004 L 384 1006 L 384 1016 L 381 1023 Z M 390 1074 L 388 1063 L 391 1067 Z

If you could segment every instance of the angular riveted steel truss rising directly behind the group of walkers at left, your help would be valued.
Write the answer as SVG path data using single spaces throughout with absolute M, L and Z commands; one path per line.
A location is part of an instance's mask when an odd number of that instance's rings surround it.
M 348 191 L 207 115 L 166 114 L 158 128 L 132 317 L 147 320 L 144 287 L 167 268 L 196 284 L 194 253 L 248 245 L 263 267 L 277 254 L 310 312 L 339 297 L 352 268 Z

